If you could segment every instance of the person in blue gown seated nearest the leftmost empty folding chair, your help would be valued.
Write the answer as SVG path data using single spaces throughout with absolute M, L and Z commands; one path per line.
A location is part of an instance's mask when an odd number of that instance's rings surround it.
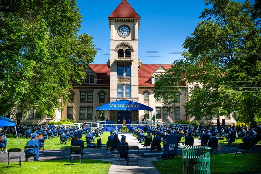
M 27 146 L 34 146 L 35 147 L 34 151 L 29 148 L 29 149 L 25 149 L 24 152 L 35 153 L 34 160 L 39 161 L 38 160 L 39 159 L 39 142 L 37 141 L 36 136 L 37 136 L 37 134 L 33 133 L 31 140 L 27 141 L 27 143 L 26 143 Z M 28 161 L 28 158 L 31 157 L 31 156 L 33 156 L 33 155 L 25 155 L 26 161 Z

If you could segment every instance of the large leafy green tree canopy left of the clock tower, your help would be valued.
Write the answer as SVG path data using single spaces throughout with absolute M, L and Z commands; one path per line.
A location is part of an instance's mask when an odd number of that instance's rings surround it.
M 78 35 L 76 0 L 2 0 L 0 4 L 0 114 L 14 106 L 53 116 L 68 102 L 96 55 L 93 37 Z

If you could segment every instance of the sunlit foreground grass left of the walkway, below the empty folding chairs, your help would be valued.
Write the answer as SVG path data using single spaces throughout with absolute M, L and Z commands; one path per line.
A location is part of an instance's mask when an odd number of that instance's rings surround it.
M 9 164 L 18 164 L 18 162 L 10 162 Z M 7 168 L 6 163 L 0 163 L 1 174 L 19 173 L 90 173 L 90 174 L 107 174 L 109 172 L 111 162 L 100 160 L 82 160 L 81 166 L 79 166 L 79 160 L 73 160 L 70 166 L 70 160 L 50 160 L 50 161 L 30 161 L 22 162 L 21 167 L 10 166 Z

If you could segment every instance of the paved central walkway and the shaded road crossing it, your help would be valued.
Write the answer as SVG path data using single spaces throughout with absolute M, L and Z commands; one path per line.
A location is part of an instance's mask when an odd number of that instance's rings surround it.
M 156 157 L 160 157 L 163 152 L 150 152 L 150 149 L 145 149 L 143 145 L 141 145 L 138 140 L 131 133 L 119 133 L 120 135 L 125 135 L 126 141 L 129 145 L 137 145 L 139 146 L 139 166 L 128 166 L 126 161 L 117 161 L 118 152 L 107 154 L 109 150 L 106 148 L 93 148 L 93 149 L 84 149 L 84 159 L 92 159 L 92 160 L 104 160 L 112 162 L 112 166 L 109 170 L 109 174 L 116 172 L 123 173 L 139 173 L 139 174 L 159 174 L 159 171 L 155 168 L 154 165 L 151 164 L 151 161 L 155 161 Z M 182 140 L 183 142 L 184 140 Z M 194 140 L 194 145 L 200 145 L 199 140 Z M 238 146 L 227 147 L 224 146 L 224 150 L 218 150 L 218 153 L 234 153 L 234 149 L 237 149 Z M 261 153 L 261 145 L 254 146 L 253 153 Z M 39 160 L 60 160 L 60 159 L 68 159 L 69 160 L 69 149 L 57 149 L 57 150 L 46 150 L 44 152 L 40 152 Z M 22 152 L 22 155 L 24 153 Z M 182 151 L 178 149 L 178 158 L 181 158 Z M 1 153 L 0 162 L 7 162 L 8 153 Z M 22 156 L 22 160 L 24 157 Z

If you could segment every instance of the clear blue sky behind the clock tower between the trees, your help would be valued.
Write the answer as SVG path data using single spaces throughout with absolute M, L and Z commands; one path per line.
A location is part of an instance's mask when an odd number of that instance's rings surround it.
M 122 0 L 78 0 L 83 15 L 79 32 L 93 35 L 95 48 L 110 49 L 110 27 L 108 16 Z M 205 8 L 202 0 L 128 0 L 141 17 L 139 27 L 139 51 L 183 52 L 182 44 L 191 35 L 198 17 Z M 95 64 L 106 64 L 109 51 L 98 50 Z M 143 57 L 167 56 L 167 57 Z M 139 52 L 143 64 L 171 64 L 180 54 L 157 54 Z

